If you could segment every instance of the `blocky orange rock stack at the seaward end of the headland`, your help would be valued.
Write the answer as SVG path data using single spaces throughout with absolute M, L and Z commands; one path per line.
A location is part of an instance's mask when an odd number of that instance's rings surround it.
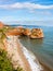
M 41 28 L 32 28 L 31 34 L 29 35 L 30 38 L 42 38 L 43 32 Z

